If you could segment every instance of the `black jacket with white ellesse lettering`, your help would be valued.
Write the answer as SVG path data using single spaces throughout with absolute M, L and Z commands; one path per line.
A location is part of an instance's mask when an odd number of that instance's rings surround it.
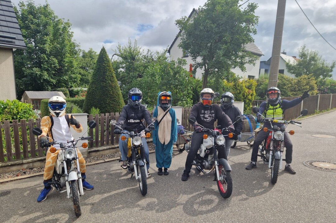
M 152 123 L 151 115 L 143 104 L 138 108 L 126 104 L 120 113 L 117 126 L 130 132 L 134 131 L 134 129 L 140 132 L 145 129 L 143 120 L 146 120 L 147 125 Z

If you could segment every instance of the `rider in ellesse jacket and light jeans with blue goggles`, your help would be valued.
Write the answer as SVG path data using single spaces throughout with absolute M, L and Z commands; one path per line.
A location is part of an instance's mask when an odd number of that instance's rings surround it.
M 151 115 L 149 111 L 146 109 L 146 107 L 141 104 L 142 101 L 142 92 L 138 88 L 132 88 L 128 91 L 128 103 L 123 107 L 118 122 L 116 126 L 114 127 L 114 134 L 121 134 L 120 138 L 122 136 L 129 137 L 127 134 L 122 134 L 122 131 L 131 132 L 134 130 L 137 130 L 138 133 L 145 129 L 145 126 L 143 124 L 143 119 L 146 120 L 147 124 L 152 123 Z M 154 130 L 154 125 L 150 125 L 148 127 L 151 130 Z M 146 142 L 146 138 L 142 138 L 142 145 L 145 150 L 145 156 L 146 156 L 146 167 L 147 170 L 149 170 L 149 150 L 148 145 Z M 119 149 L 121 153 L 121 160 L 123 161 L 121 167 L 123 169 L 127 168 L 127 140 L 119 140 Z M 151 174 L 148 172 L 148 177 L 151 176 Z

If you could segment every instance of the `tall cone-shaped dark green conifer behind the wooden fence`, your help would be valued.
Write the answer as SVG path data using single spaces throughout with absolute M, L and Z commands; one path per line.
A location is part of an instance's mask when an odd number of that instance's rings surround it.
M 112 69 L 110 58 L 103 47 L 98 55 L 90 85 L 87 89 L 84 111 L 90 113 L 92 107 L 101 113 L 120 112 L 124 101 L 118 81 Z

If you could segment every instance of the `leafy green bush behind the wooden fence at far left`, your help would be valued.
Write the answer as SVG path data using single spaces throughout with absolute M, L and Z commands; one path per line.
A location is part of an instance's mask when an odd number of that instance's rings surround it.
M 0 122 L 35 118 L 33 105 L 19 100 L 0 100 Z

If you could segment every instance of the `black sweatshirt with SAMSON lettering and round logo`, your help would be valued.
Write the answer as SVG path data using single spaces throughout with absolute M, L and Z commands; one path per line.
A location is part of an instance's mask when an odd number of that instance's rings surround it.
M 201 102 L 194 104 L 190 112 L 189 118 L 190 117 L 195 117 L 197 123 L 207 129 L 214 129 L 216 120 L 218 120 L 218 122 L 221 121 L 224 127 L 232 124 L 230 118 L 223 113 L 218 104 L 212 104 L 208 107 L 204 106 Z

